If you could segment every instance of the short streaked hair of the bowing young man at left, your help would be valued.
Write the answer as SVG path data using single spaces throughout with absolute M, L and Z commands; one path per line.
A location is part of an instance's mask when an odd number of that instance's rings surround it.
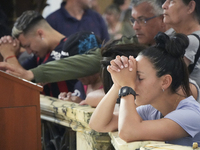
M 12 36 L 17 38 L 20 34 L 27 33 L 30 28 L 42 19 L 44 18 L 36 11 L 28 10 L 23 12 L 12 28 Z

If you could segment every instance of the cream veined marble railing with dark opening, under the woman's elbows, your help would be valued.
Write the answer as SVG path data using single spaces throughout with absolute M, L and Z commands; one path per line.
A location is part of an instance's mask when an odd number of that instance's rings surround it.
M 55 150 L 194 150 L 192 147 L 159 141 L 126 143 L 118 132 L 98 133 L 88 123 L 94 111 L 90 106 L 40 96 L 43 149 Z M 62 132 L 60 132 L 62 131 Z M 196 148 L 195 150 L 200 150 Z

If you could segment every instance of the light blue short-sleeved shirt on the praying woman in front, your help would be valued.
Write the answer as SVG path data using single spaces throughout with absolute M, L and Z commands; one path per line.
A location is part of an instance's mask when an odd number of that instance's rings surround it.
M 139 106 L 137 112 L 143 120 L 161 118 L 161 113 L 151 105 Z M 192 96 L 180 101 L 176 110 L 164 118 L 173 120 L 189 134 L 188 137 L 166 141 L 166 143 L 184 146 L 192 146 L 193 142 L 200 144 L 200 104 Z

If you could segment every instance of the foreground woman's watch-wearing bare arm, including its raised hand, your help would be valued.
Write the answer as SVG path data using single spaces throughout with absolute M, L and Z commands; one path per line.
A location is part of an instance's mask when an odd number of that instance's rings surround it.
M 118 58 L 116 63 L 114 61 L 111 64 L 115 67 L 120 66 L 119 60 Z M 117 82 L 121 87 L 128 86 L 135 89 L 136 61 L 131 57 L 128 66 L 123 67 L 120 71 L 114 71 L 116 69 L 112 69 L 112 65 L 108 71 L 115 83 Z M 171 119 L 142 120 L 137 113 L 134 96 L 131 94 L 121 98 L 118 131 L 120 138 L 127 142 L 138 140 L 166 141 L 188 136 L 188 133 Z

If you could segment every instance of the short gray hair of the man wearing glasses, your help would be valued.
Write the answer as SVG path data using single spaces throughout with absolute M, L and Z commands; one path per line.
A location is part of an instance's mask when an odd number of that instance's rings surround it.
M 140 5 L 141 3 L 149 3 L 152 8 L 153 8 L 153 13 L 155 15 L 162 15 L 163 14 L 163 9 L 162 5 L 164 4 L 165 0 L 132 0 L 131 6 L 136 7 Z

